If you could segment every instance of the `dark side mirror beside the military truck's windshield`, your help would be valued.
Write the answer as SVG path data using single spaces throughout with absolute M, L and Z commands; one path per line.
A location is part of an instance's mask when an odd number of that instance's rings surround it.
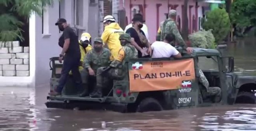
M 223 61 L 223 72 L 233 72 L 234 71 L 234 57 L 221 57 Z

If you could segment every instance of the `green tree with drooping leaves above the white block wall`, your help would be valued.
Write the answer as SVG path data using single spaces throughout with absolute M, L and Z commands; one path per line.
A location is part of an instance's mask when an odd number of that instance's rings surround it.
M 53 0 L 0 0 L 0 41 L 24 40 L 19 18 L 28 22 L 32 13 L 41 16 L 44 7 L 52 5 Z

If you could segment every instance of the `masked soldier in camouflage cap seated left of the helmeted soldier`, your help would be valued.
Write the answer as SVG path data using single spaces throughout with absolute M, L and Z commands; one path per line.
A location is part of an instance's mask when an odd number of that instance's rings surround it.
M 86 96 L 88 93 L 89 75 L 95 77 L 98 68 L 109 66 L 110 56 L 111 53 L 109 49 L 103 47 L 102 39 L 96 37 L 94 39 L 93 49 L 88 52 L 84 60 L 84 69 L 81 72 L 81 76 L 83 77 L 83 83 L 85 83 L 86 87 L 85 91 L 80 95 L 81 97 Z

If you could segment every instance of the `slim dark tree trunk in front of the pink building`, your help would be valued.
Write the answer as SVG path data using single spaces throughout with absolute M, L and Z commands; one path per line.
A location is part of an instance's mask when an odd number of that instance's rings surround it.
M 184 7 L 182 12 L 182 37 L 186 41 L 189 36 L 189 20 L 188 20 L 188 2 L 189 0 L 184 0 Z

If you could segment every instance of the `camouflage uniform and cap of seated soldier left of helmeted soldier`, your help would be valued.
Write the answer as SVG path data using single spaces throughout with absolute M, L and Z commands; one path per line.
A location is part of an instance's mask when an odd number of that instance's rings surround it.
M 94 39 L 94 42 L 102 43 L 102 39 L 100 37 L 96 37 Z M 81 71 L 83 83 L 88 85 L 88 77 L 89 77 L 88 68 L 91 67 L 94 73 L 96 74 L 98 68 L 109 66 L 110 56 L 111 56 L 111 53 L 109 49 L 106 49 L 104 47 L 102 49 L 101 54 L 97 53 L 94 49 L 90 50 L 84 59 L 84 63 L 83 63 L 84 69 L 83 71 Z

